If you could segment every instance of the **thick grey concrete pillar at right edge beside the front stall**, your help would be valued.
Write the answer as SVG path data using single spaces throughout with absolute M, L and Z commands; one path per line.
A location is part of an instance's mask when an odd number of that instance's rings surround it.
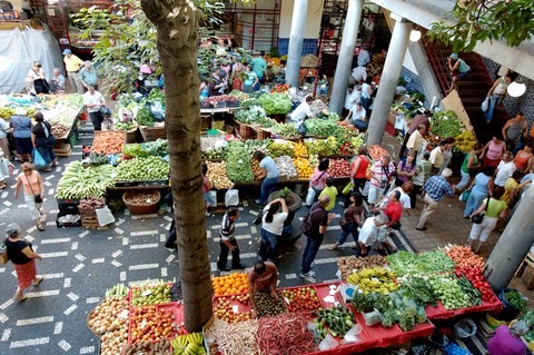
M 521 197 L 520 205 L 486 262 L 485 275 L 496 292 L 506 287 L 534 244 L 534 187 Z

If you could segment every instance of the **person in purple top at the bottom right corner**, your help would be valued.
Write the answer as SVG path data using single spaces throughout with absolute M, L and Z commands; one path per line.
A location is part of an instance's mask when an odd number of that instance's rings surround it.
M 528 326 L 523 321 L 514 321 L 506 325 L 500 325 L 495 329 L 495 335 L 487 342 L 487 353 L 490 355 L 525 355 L 526 345 L 521 336 L 528 331 Z

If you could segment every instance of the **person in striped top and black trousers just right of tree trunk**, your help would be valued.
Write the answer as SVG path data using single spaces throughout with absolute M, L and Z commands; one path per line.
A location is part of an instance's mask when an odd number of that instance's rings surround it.
M 219 230 L 219 247 L 220 254 L 217 262 L 217 268 L 219 272 L 229 272 L 230 269 L 226 265 L 228 260 L 228 253 L 231 252 L 231 269 L 244 269 L 245 265 L 241 264 L 239 258 L 239 247 L 237 246 L 237 240 L 234 236 L 236 230 L 236 220 L 239 219 L 240 214 L 237 207 L 230 207 L 222 216 L 222 221 L 220 224 Z

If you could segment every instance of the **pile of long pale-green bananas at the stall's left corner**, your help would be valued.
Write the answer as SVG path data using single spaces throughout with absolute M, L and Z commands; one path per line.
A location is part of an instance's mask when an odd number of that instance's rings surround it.
M 113 186 L 111 174 L 113 166 L 101 165 L 85 168 L 81 161 L 72 161 L 67 166 L 58 183 L 56 197 L 62 199 L 103 196 L 108 187 Z

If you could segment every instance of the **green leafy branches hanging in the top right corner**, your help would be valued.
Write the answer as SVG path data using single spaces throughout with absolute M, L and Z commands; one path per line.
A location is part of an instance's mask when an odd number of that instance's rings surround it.
M 455 52 L 469 52 L 485 40 L 504 40 L 517 47 L 534 36 L 532 0 L 457 0 L 447 18 L 452 22 L 433 22 L 427 36 L 452 45 Z

